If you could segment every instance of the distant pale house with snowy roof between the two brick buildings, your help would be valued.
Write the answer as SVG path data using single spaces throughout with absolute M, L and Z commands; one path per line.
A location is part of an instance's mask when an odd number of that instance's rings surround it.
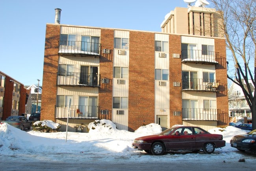
M 27 90 L 30 90 L 30 94 L 28 96 L 28 101 L 26 105 L 26 113 L 32 114 L 33 112 L 41 111 L 41 94 L 42 94 L 42 86 L 37 88 L 37 85 L 25 86 Z M 38 102 L 37 102 L 38 96 Z

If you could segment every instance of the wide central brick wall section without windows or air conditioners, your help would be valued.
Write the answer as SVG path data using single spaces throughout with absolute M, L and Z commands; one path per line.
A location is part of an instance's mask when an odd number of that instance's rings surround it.
M 128 131 L 154 123 L 154 33 L 130 31 Z

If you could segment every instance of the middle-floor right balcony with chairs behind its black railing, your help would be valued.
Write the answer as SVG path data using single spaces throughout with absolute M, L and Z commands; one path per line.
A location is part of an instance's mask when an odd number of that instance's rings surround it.
M 182 91 L 219 92 L 219 80 L 182 79 Z

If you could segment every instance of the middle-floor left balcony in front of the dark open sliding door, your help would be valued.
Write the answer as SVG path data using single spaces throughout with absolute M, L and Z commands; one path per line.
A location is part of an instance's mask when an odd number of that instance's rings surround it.
M 100 75 L 80 72 L 57 72 L 58 86 L 99 87 Z

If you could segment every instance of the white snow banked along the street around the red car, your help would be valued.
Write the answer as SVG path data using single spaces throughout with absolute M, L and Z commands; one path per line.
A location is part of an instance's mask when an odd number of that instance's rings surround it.
M 50 121 L 53 127 L 55 126 Z M 47 154 L 47 153 L 70 153 L 70 154 L 113 154 L 113 155 L 139 155 L 145 153 L 138 151 L 132 147 L 135 138 L 150 134 L 158 134 L 161 132 L 160 125 L 151 123 L 149 125 L 139 127 L 135 132 L 118 130 L 115 124 L 109 120 L 100 120 L 98 124 L 90 123 L 88 125 L 89 133 L 81 132 L 37 132 L 37 131 L 21 131 L 6 123 L 0 125 L 0 153 L 3 155 L 20 155 L 20 154 Z M 236 127 L 227 126 L 224 129 L 215 128 L 208 130 L 210 133 L 222 134 L 226 141 L 226 146 L 221 149 L 215 149 L 213 154 L 209 154 L 213 160 L 217 160 L 219 156 L 223 158 L 232 155 L 237 161 L 241 158 L 241 152 L 230 147 L 230 139 L 237 134 L 244 134 L 243 131 Z M 67 139 L 66 139 L 67 138 Z M 237 153 L 238 152 L 238 153 Z M 166 154 L 170 155 L 170 154 Z M 151 154 L 143 155 L 143 159 L 148 161 Z M 190 153 L 188 155 L 180 154 L 173 160 L 191 159 L 193 157 L 206 157 L 202 153 Z M 132 159 L 131 159 L 132 160 Z M 136 159 L 137 160 L 137 159 Z

